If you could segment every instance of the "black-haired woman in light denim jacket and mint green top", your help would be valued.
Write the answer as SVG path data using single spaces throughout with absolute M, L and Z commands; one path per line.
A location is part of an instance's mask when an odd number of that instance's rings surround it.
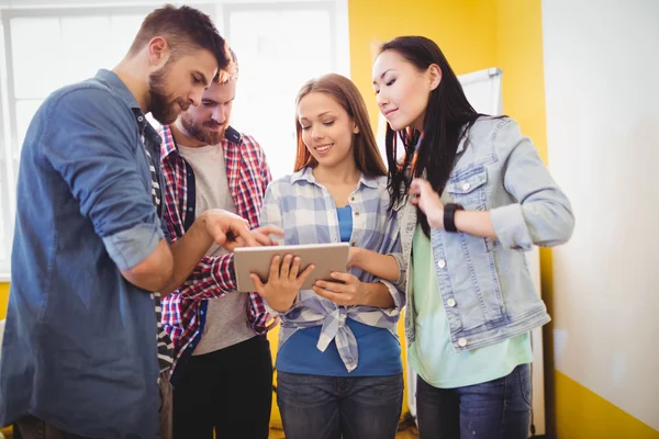
M 432 41 L 386 43 L 373 87 L 406 273 L 391 258 L 357 260 L 406 279 L 421 438 L 525 439 L 529 331 L 549 316 L 524 251 L 570 238 L 570 203 L 515 121 L 473 110 Z

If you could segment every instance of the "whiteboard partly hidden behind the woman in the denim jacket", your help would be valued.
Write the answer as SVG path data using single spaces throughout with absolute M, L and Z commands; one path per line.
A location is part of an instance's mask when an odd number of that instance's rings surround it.
M 502 71 L 499 68 L 488 68 L 458 77 L 467 99 L 477 112 L 491 115 L 503 114 L 503 102 L 501 99 Z M 387 120 L 380 113 L 378 121 L 377 139 L 380 153 L 386 158 L 384 136 L 387 133 Z M 400 151 L 399 154 L 401 154 Z M 387 159 L 384 159 L 387 164 Z M 534 247 L 526 254 L 528 268 L 534 281 L 536 292 L 540 293 L 540 258 L 539 250 Z M 405 309 L 407 312 L 407 309 Z M 406 342 L 406 340 L 405 340 Z M 533 346 L 533 423 L 536 435 L 545 434 L 545 383 L 543 361 L 543 330 L 536 328 L 532 333 Z M 406 359 L 405 359 L 406 361 Z M 416 373 L 407 363 L 407 405 L 410 414 L 416 419 Z

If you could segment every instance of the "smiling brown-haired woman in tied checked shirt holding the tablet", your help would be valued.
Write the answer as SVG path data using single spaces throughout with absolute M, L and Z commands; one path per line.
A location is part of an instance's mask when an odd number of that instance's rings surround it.
M 350 243 L 402 266 L 387 169 L 355 85 L 339 75 L 313 79 L 298 94 L 297 113 L 295 172 L 268 187 L 261 226 L 282 228 L 283 244 Z M 275 257 L 265 285 L 252 278 L 281 318 L 277 403 L 286 437 L 393 439 L 404 291 L 357 268 L 300 290 L 313 269 L 302 271 L 303 263 Z

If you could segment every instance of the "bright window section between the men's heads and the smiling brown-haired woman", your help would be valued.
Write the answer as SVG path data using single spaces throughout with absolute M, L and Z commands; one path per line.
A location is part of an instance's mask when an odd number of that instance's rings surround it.
M 241 68 L 232 124 L 261 145 L 275 178 L 293 170 L 300 87 L 331 71 L 348 76 L 347 63 L 338 61 L 347 60 L 347 49 L 336 37 L 337 29 L 347 29 L 347 13 L 342 22 L 336 8 L 304 2 L 224 9 L 225 33 Z

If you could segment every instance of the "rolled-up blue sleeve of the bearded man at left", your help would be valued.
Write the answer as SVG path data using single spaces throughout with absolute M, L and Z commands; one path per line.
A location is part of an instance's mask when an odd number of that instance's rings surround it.
M 52 109 L 43 140 L 47 160 L 116 266 L 135 267 L 165 235 L 145 183 L 146 156 L 139 156 L 131 110 L 102 89 L 74 90 Z

